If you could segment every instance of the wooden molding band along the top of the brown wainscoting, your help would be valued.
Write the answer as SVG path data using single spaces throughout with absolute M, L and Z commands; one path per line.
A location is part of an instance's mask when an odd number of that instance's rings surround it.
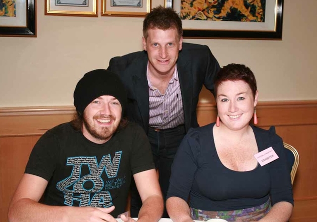
M 215 121 L 216 105 L 199 103 L 200 125 Z M 73 106 L 0 108 L 0 137 L 42 135 L 76 113 Z M 259 127 L 317 124 L 317 100 L 259 102 Z M 54 117 L 54 118 L 52 118 Z

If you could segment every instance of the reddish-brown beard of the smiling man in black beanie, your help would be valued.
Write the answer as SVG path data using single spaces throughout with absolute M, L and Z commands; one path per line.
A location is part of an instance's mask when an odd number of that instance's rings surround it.
M 98 119 L 98 118 L 105 118 L 102 116 L 94 116 L 93 119 Z M 114 119 L 110 116 L 110 119 L 114 121 Z M 99 140 L 106 140 L 109 137 L 111 137 L 115 131 L 118 128 L 118 125 L 113 126 L 111 125 L 110 127 L 99 127 L 96 128 L 93 124 L 93 120 L 90 122 L 89 118 L 87 116 L 83 116 L 83 123 L 85 124 L 85 127 L 89 134 L 91 134 L 94 138 L 99 139 Z

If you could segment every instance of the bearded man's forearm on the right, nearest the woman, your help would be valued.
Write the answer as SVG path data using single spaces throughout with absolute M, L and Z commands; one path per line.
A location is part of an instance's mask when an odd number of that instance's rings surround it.
M 163 214 L 163 198 L 159 195 L 147 198 L 139 212 L 138 221 L 140 222 L 158 222 Z

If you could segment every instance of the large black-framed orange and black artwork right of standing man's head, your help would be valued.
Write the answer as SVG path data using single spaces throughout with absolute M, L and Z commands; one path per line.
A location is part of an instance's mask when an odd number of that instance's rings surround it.
M 281 40 L 283 0 L 165 0 L 183 38 Z

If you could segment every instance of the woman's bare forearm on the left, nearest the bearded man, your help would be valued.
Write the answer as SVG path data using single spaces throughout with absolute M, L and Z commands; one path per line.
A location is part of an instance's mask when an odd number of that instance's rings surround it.
M 189 206 L 179 197 L 170 197 L 166 201 L 168 216 L 173 222 L 193 222 L 190 216 Z

